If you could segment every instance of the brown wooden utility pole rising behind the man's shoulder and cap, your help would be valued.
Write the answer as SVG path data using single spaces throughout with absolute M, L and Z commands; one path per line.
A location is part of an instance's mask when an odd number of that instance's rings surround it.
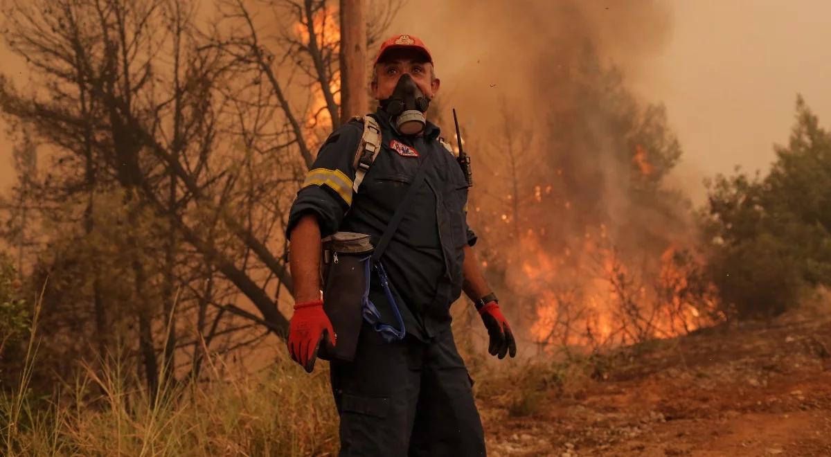
M 366 114 L 366 0 L 341 0 L 341 123 Z

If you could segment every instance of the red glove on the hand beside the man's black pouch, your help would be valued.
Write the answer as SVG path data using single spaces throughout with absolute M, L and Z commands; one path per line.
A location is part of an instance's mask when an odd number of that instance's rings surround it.
M 320 343 L 325 337 L 335 346 L 337 336 L 332 329 L 332 322 L 329 322 L 329 317 L 323 312 L 323 301 L 296 303 L 294 316 L 288 322 L 287 344 L 292 360 L 311 373 L 317 359 L 317 350 L 320 349 Z

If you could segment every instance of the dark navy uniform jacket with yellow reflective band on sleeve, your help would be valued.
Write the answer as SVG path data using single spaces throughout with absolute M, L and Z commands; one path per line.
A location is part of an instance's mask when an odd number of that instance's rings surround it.
M 381 126 L 381 151 L 357 193 L 352 192 L 352 163 L 363 125 L 352 120 L 322 145 L 297 193 L 287 233 L 303 214 L 312 213 L 324 237 L 337 231 L 368 233 L 377 243 L 421 161 L 434 155 L 425 182 L 381 258 L 406 332 L 425 341 L 450 328 L 450 304 L 462 287 L 463 248 L 476 242 L 466 221 L 468 185 L 455 156 L 437 140 L 437 126 L 428 122 L 421 136 L 399 135 L 386 112 L 379 109 L 372 116 Z M 374 274 L 370 299 L 382 322 L 396 327 Z

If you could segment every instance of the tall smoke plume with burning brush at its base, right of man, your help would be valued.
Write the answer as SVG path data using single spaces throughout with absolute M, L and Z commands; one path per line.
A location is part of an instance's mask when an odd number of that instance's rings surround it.
M 505 7 L 470 13 L 499 17 Z M 462 9 L 449 2 L 443 12 Z M 512 322 L 541 349 L 675 337 L 724 317 L 691 204 L 668 178 L 681 145 L 663 106 L 627 89 L 627 71 L 664 39 L 669 12 L 641 2 L 612 21 L 608 9 L 533 3 L 512 8 L 509 29 L 483 18 L 487 36 L 454 25 L 476 37 L 462 59 L 470 63 L 437 65 L 452 87 L 440 104 L 467 107 L 480 256 Z

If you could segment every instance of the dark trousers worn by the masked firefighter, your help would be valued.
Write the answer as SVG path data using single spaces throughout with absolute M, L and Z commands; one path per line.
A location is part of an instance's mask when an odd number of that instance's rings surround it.
M 355 361 L 333 361 L 342 456 L 485 455 L 472 381 L 448 329 L 388 343 L 366 323 Z

